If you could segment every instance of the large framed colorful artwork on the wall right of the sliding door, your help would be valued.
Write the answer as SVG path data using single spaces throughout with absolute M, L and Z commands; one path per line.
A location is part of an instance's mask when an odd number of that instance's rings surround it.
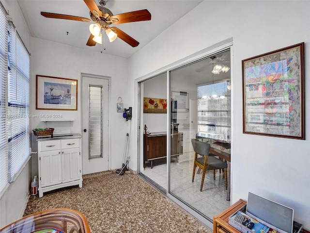
M 305 139 L 304 43 L 242 60 L 243 133 Z

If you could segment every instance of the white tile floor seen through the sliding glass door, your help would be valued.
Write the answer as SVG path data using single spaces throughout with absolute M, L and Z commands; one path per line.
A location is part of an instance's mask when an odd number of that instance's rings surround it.
M 178 163 L 171 163 L 170 191 L 203 215 L 213 219 L 213 216 L 230 206 L 230 201 L 226 200 L 227 190 L 225 190 L 223 173 L 217 171 L 216 180 L 213 180 L 213 171 L 207 171 L 202 192 L 200 192 L 202 172 L 197 174 L 198 168 L 196 168 L 195 180 L 192 183 L 193 160 L 190 156 L 187 158 L 187 160 L 179 160 Z M 166 164 L 154 162 L 152 169 L 146 166 L 142 173 L 167 189 Z

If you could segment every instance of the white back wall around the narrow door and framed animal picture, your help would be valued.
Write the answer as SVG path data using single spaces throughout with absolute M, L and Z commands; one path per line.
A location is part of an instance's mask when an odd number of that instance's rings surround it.
M 110 169 L 119 168 L 123 163 L 125 137 L 127 124 L 122 113 L 117 113 L 116 103 L 118 98 L 123 99 L 124 108 L 127 108 L 127 59 L 110 56 L 91 50 L 83 50 L 59 43 L 54 43 L 38 38 L 32 38 L 31 53 L 31 114 L 40 116 L 44 114 L 61 114 L 63 119 L 74 119 L 72 133 L 82 133 L 81 129 L 81 73 L 111 77 L 111 98 L 109 106 L 109 127 L 111 134 Z M 117 67 L 117 68 L 116 68 Z M 35 109 L 35 79 L 36 75 L 46 75 L 78 80 L 78 110 L 56 111 Z M 44 127 L 41 118 L 32 118 L 32 128 Z M 33 135 L 33 134 L 32 134 Z M 35 137 L 35 136 L 34 136 Z M 124 140 L 122 140 L 124 139 Z M 32 140 L 33 142 L 34 140 Z M 32 150 L 35 150 L 33 142 Z M 37 163 L 34 160 L 33 164 Z M 33 169 L 35 169 L 33 165 Z M 37 171 L 36 171 L 37 172 Z M 33 170 L 32 175 L 36 175 Z

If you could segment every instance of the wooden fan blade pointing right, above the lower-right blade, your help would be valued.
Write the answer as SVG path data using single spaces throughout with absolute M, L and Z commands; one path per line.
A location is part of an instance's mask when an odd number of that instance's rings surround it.
M 140 11 L 132 11 L 132 12 L 127 12 L 127 13 L 111 16 L 110 20 L 113 21 L 112 20 L 113 18 L 118 19 L 118 22 L 115 22 L 115 24 L 120 24 L 120 23 L 151 20 L 151 14 L 148 10 L 140 10 Z

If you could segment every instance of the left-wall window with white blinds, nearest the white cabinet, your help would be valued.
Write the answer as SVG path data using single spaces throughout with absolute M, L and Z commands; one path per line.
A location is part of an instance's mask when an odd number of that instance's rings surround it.
M 12 23 L 8 33 L 9 182 L 30 156 L 30 55 Z

